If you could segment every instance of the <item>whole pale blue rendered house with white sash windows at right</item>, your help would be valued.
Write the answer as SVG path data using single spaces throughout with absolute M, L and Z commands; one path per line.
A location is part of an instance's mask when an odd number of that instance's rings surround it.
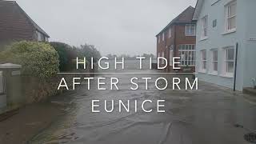
M 240 91 L 254 85 L 255 6 L 256 0 L 198 0 L 193 19 L 199 80 Z

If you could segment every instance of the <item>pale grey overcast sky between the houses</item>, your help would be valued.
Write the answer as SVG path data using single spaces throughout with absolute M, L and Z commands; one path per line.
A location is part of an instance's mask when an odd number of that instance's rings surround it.
M 105 54 L 156 53 L 156 38 L 196 0 L 17 0 L 50 41 L 89 43 Z

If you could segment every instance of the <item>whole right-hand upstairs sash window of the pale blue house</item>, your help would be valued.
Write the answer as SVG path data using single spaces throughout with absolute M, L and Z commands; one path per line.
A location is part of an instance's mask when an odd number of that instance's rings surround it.
M 226 5 L 226 31 L 232 31 L 236 28 L 236 7 L 237 2 L 233 1 Z

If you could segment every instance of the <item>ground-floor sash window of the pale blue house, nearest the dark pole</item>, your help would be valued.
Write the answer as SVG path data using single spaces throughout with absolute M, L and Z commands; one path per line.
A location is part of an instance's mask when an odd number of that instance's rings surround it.
M 234 72 L 234 46 L 226 47 L 225 67 L 226 74 L 233 74 Z

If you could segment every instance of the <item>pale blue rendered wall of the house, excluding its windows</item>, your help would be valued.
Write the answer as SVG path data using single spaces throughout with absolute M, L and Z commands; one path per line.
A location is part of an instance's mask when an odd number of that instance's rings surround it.
M 214 3 L 215 2 L 215 3 Z M 252 47 L 250 42 L 246 40 L 246 31 L 251 27 L 253 28 L 255 24 L 255 18 L 253 18 L 253 23 L 249 24 L 248 15 L 246 13 L 254 12 L 250 10 L 254 10 L 255 6 L 254 0 L 237 1 L 237 16 L 236 16 L 236 31 L 234 33 L 225 34 L 225 5 L 231 2 L 230 0 L 221 0 L 216 2 L 216 0 L 205 0 L 202 5 L 202 10 L 199 14 L 198 22 L 197 22 L 197 62 L 196 62 L 196 71 L 198 72 L 197 77 L 205 82 L 212 82 L 221 86 L 226 86 L 229 88 L 233 88 L 234 86 L 234 77 L 226 77 L 223 74 L 223 66 L 224 66 L 224 50 L 223 48 L 226 46 L 234 46 L 238 42 L 238 70 L 237 70 L 237 84 L 236 89 L 242 90 L 244 86 L 247 86 L 248 76 L 252 77 L 255 73 L 255 68 L 252 68 L 252 62 L 256 62 L 254 57 L 248 58 L 256 53 L 250 53 L 254 50 L 250 50 L 247 47 Z M 214 3 L 214 4 L 213 4 Z M 250 5 L 249 7 L 247 5 Z M 250 8 L 251 7 L 251 8 Z M 250 12 L 249 12 L 250 11 Z M 201 19 L 208 14 L 208 38 L 202 40 L 202 22 Z M 252 15 L 250 14 L 250 15 Z M 252 16 L 253 17 L 253 16 Z M 251 17 L 250 17 L 251 18 Z M 214 19 L 217 20 L 217 26 L 213 27 Z M 255 31 L 249 30 L 250 33 L 256 34 Z M 253 45 L 254 46 L 254 45 Z M 254 46 L 255 47 L 255 46 Z M 210 50 L 218 49 L 218 74 L 213 75 L 210 74 Z M 252 49 L 252 48 L 251 48 Z M 201 60 L 201 50 L 207 50 L 207 68 L 206 72 L 202 73 L 200 67 L 202 66 Z M 247 52 L 247 51 L 250 52 Z M 249 54 L 250 53 L 250 54 Z M 250 56 L 249 56 L 250 55 Z M 248 63 L 248 61 L 251 61 Z M 250 70 L 253 74 L 249 74 L 248 68 L 250 65 Z M 255 67 L 255 66 L 254 66 Z M 246 84 L 246 85 L 245 85 Z

